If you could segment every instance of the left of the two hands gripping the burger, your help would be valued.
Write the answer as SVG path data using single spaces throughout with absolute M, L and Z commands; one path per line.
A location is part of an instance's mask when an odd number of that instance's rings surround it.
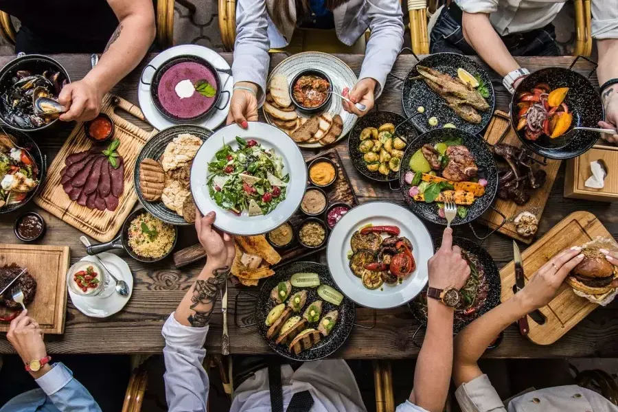
M 526 286 L 516 295 L 523 299 L 529 312 L 551 302 L 569 272 L 582 262 L 584 255 L 580 251 L 582 248 L 577 246 L 565 249 L 532 275 Z

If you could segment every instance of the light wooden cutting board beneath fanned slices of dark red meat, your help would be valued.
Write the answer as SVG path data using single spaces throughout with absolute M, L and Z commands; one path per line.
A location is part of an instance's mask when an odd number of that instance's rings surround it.
M 122 108 L 144 122 L 146 120 L 144 114 L 141 113 L 137 106 L 122 98 L 107 94 L 103 99 L 101 111 L 111 117 L 115 124 L 115 137 L 120 139 L 118 152 L 124 158 L 124 192 L 119 198 L 117 209 L 115 211 L 100 211 L 80 206 L 77 202 L 69 199 L 69 196 L 60 184 L 60 170 L 65 167 L 67 156 L 88 150 L 93 146 L 93 142 L 84 133 L 83 123 L 78 123 L 73 128 L 71 135 L 69 135 L 62 148 L 60 148 L 56 159 L 49 166 L 47 180 L 34 198 L 34 203 L 99 242 L 109 242 L 112 240 L 120 227 L 122 227 L 126 216 L 133 209 L 137 201 L 137 194 L 135 194 L 135 187 L 133 185 L 135 159 L 137 159 L 137 155 L 146 141 L 158 133 L 158 130 L 147 132 L 123 119 L 114 113 L 116 107 Z

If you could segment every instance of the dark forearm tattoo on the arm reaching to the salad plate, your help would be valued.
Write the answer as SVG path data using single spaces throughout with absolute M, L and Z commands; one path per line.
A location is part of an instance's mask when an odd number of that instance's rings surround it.
M 193 288 L 192 305 L 190 309 L 195 314 L 190 315 L 187 320 L 194 328 L 203 328 L 210 321 L 214 304 L 217 301 L 219 290 L 225 286 L 229 275 L 229 266 L 216 268 L 206 280 L 196 280 Z

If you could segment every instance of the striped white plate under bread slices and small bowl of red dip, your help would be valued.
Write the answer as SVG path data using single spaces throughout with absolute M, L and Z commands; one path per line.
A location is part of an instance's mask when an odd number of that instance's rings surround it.
M 306 69 L 317 69 L 321 70 L 324 73 L 328 74 L 330 80 L 332 82 L 332 91 L 341 94 L 341 91 L 344 87 L 348 87 L 352 89 L 354 84 L 358 82 L 358 78 L 354 74 L 354 71 L 348 67 L 348 65 L 343 62 L 343 60 L 339 60 L 330 54 L 321 53 L 321 52 L 304 52 L 299 54 L 294 54 L 286 58 L 280 62 L 277 67 L 271 71 L 270 76 L 268 76 L 268 80 L 266 84 L 270 84 L 271 78 L 275 76 L 275 74 L 282 74 L 288 78 L 288 82 L 291 82 L 294 76 L 296 76 L 300 71 Z M 340 115 L 341 119 L 343 119 L 343 131 L 341 135 L 337 137 L 337 139 L 332 143 L 335 144 L 337 141 L 343 139 L 347 135 L 347 133 L 352 130 L 354 124 L 358 117 L 353 115 L 352 113 L 347 113 L 347 111 L 343 110 L 343 105 L 341 104 L 341 98 L 336 95 L 332 96 L 330 100 L 330 106 L 325 112 L 330 113 L 331 115 Z M 300 116 L 308 117 L 307 115 L 303 115 L 297 111 Z M 271 124 L 271 118 L 267 113 L 264 113 L 264 117 L 266 117 L 266 122 Z M 323 148 L 319 142 L 315 143 L 299 143 L 298 146 L 301 148 Z

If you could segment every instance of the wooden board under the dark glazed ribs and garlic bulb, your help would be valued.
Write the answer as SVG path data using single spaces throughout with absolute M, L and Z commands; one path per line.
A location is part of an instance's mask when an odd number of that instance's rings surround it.
M 503 135 L 504 137 L 500 141 Z M 499 110 L 494 111 L 492 121 L 490 122 L 487 132 L 485 133 L 485 141 L 492 145 L 500 141 L 501 143 L 521 147 L 521 141 L 518 139 L 515 131 L 511 127 L 509 114 Z M 542 160 L 539 156 L 536 156 L 536 158 Z M 549 198 L 549 194 L 551 192 L 551 186 L 553 186 L 553 181 L 556 180 L 556 174 L 558 174 L 558 169 L 560 169 L 560 160 L 547 159 L 547 166 L 542 166 L 542 168 L 545 172 L 547 172 L 547 181 L 545 181 L 545 185 L 543 185 L 540 189 L 531 191 L 531 196 L 528 203 L 520 206 L 513 201 L 503 201 L 497 196 L 494 203 L 494 207 L 501 211 L 501 213 L 507 218 L 505 225 L 503 225 L 503 227 L 501 227 L 498 231 L 500 233 L 504 233 L 510 238 L 517 239 L 520 242 L 527 244 L 530 244 L 532 240 L 534 240 L 534 236 L 530 236 L 529 238 L 520 236 L 515 229 L 513 220 L 522 211 L 529 211 L 536 215 L 536 218 L 540 221 L 543 209 L 545 209 L 545 203 L 547 203 L 547 198 Z M 499 227 L 502 221 L 503 217 L 492 209 L 488 209 L 488 211 L 486 211 L 485 214 L 479 218 L 479 222 L 488 225 L 492 229 Z

